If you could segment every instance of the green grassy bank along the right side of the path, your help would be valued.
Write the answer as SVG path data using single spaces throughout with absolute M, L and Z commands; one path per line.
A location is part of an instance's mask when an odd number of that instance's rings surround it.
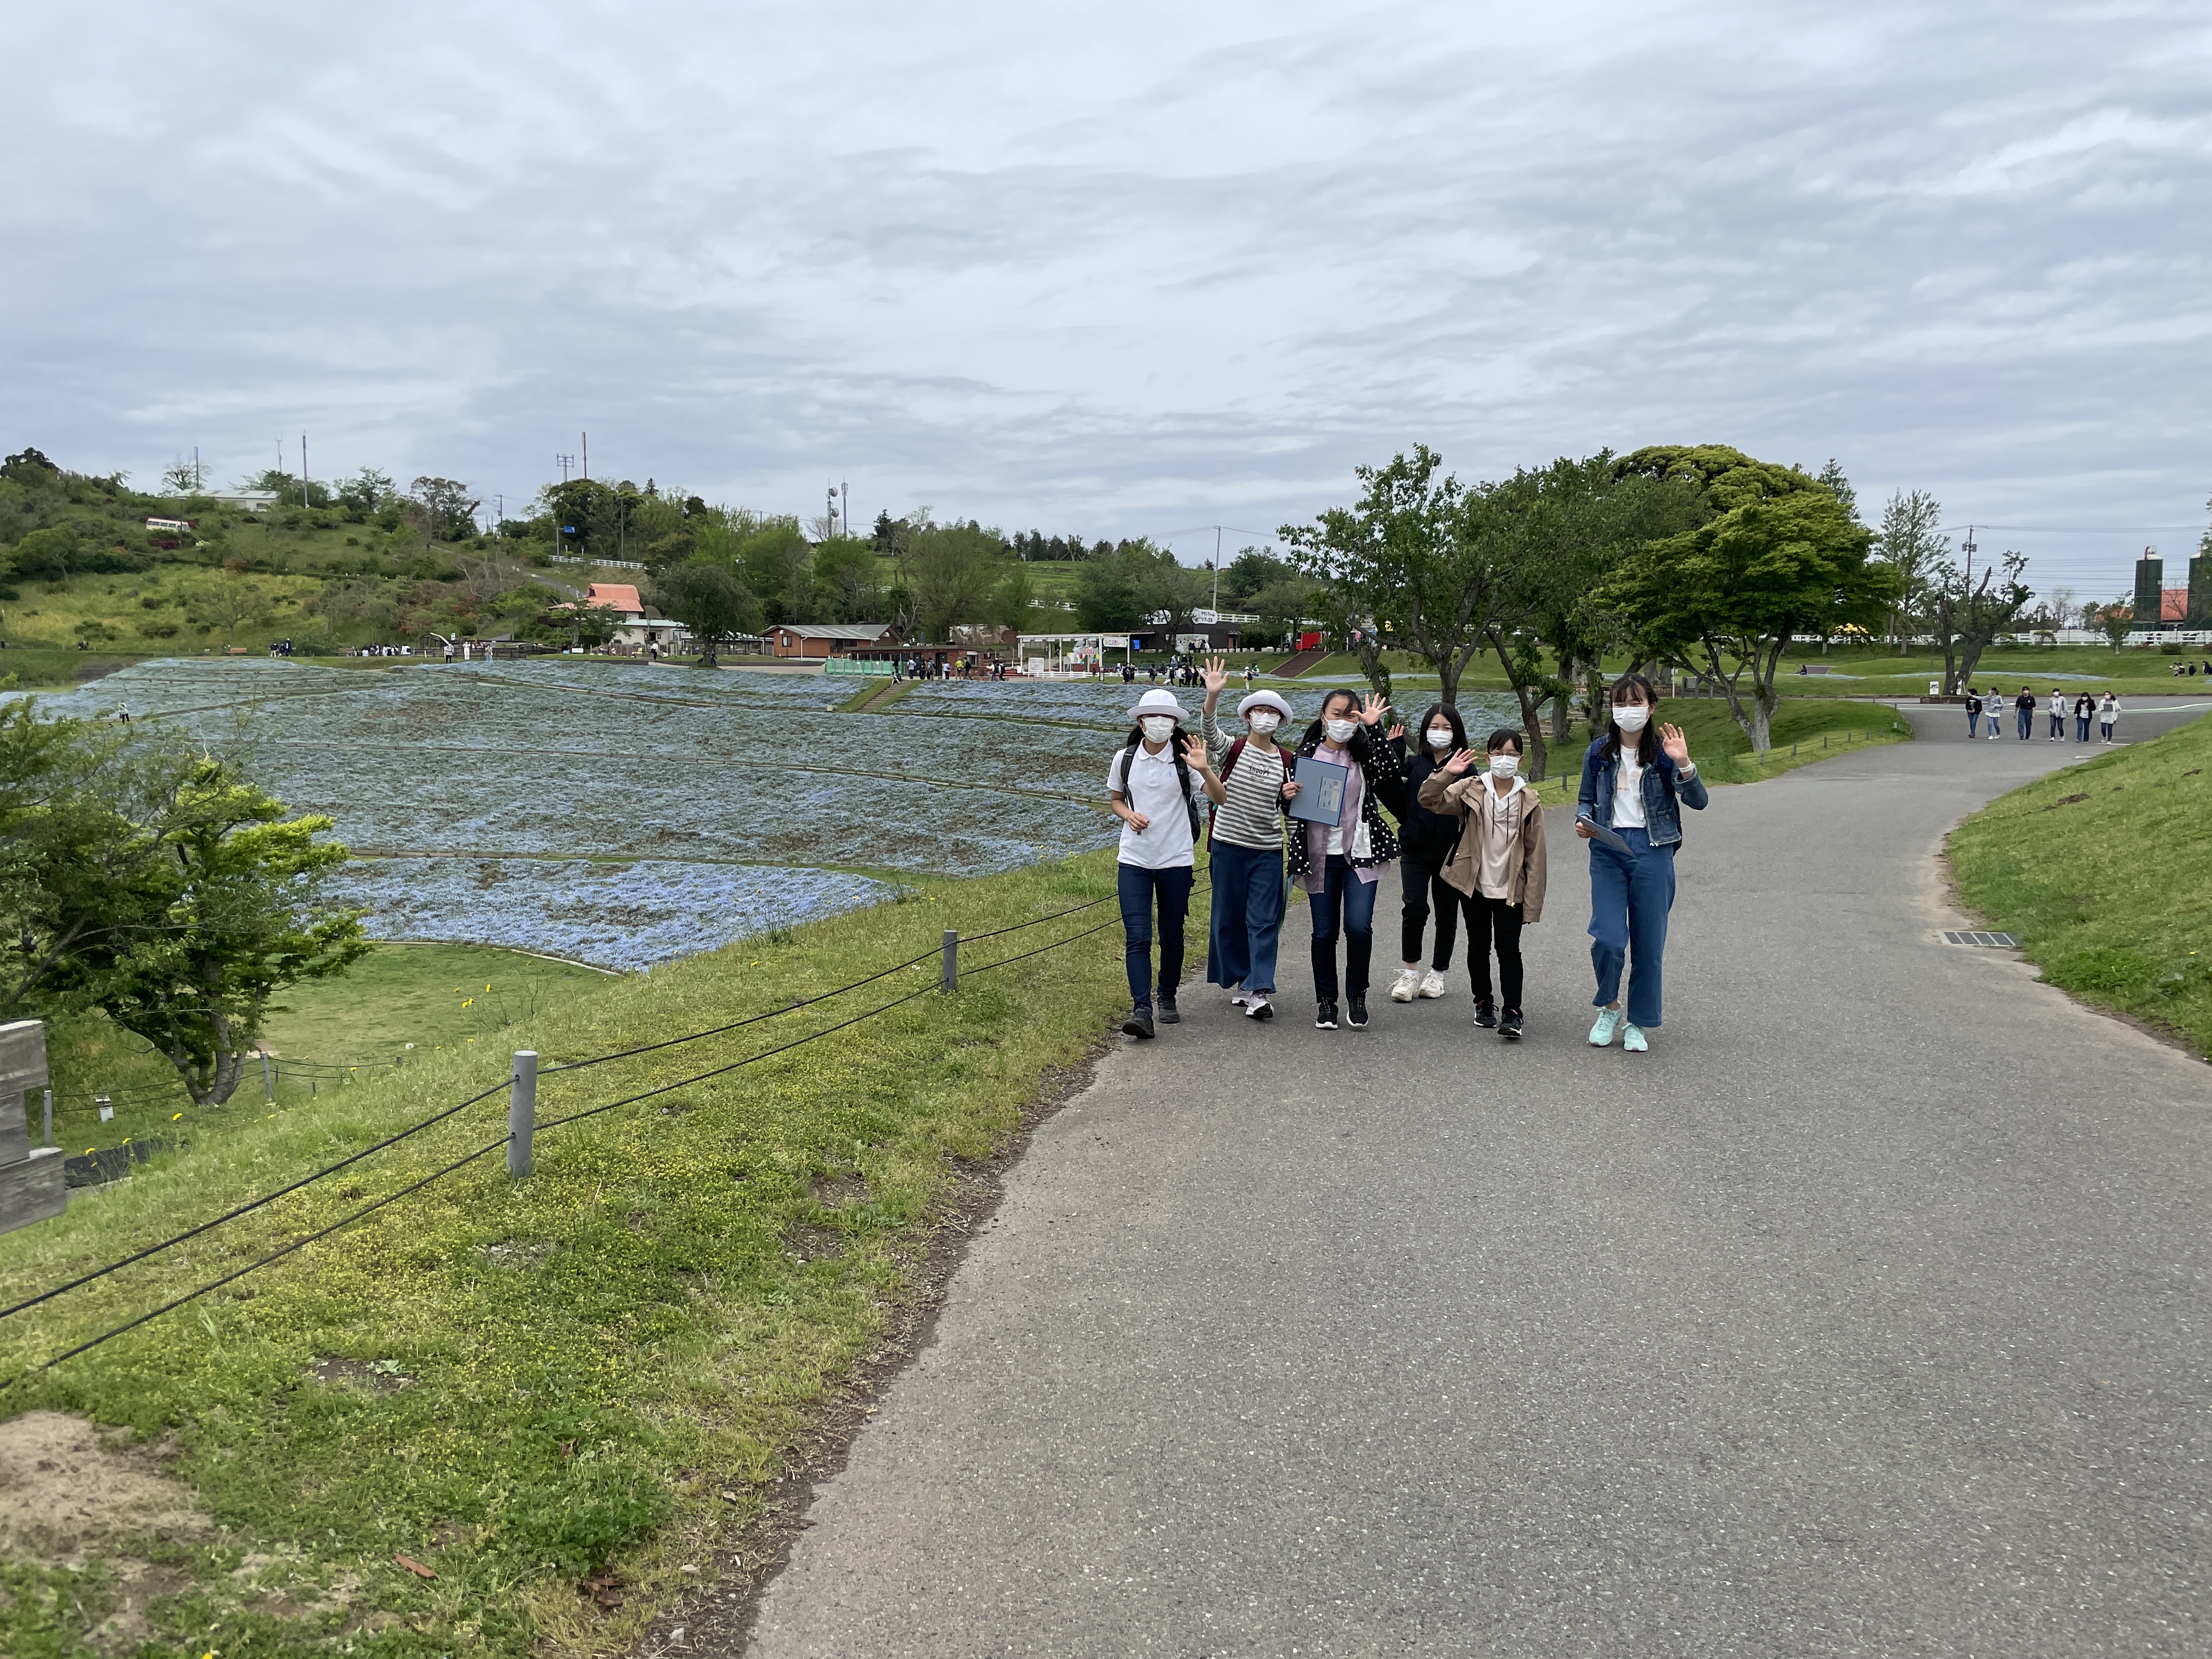
M 2044 978 L 2212 1057 L 2212 721 L 2013 790 L 1951 834 L 1960 898 Z

